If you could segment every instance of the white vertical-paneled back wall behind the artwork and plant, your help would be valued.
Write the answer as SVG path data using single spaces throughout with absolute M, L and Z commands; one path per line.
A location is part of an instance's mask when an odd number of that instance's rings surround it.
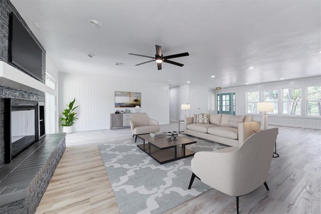
M 77 117 L 74 131 L 110 128 L 110 113 L 125 108 L 114 107 L 114 92 L 141 93 L 141 112 L 159 124 L 169 124 L 169 85 L 122 78 L 59 74 L 59 117 L 65 105 L 76 98 Z M 134 108 L 130 109 L 134 112 Z M 60 130 L 62 131 L 62 130 Z

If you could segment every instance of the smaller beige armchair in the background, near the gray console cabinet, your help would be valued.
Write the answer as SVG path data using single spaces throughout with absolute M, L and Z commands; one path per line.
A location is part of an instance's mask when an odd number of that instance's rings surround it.
M 132 137 L 159 131 L 158 121 L 150 119 L 146 113 L 134 113 L 130 118 Z

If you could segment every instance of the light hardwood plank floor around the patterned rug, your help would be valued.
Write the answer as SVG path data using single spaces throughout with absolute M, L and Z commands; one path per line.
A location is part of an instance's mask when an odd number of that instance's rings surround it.
M 241 196 L 240 213 L 321 213 L 321 131 L 272 127 L 279 128 L 280 156 L 272 158 L 270 191 L 261 186 Z M 178 123 L 161 125 L 167 130 L 178 131 Z M 128 128 L 68 134 L 36 213 L 119 213 L 97 145 L 128 136 Z M 166 213 L 236 213 L 236 199 L 210 189 Z

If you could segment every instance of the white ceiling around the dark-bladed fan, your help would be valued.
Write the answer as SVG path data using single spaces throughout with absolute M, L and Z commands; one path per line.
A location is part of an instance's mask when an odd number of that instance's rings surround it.
M 59 72 L 210 88 L 321 75 L 321 1 L 11 2 Z M 134 66 L 149 59 L 128 53 L 154 57 L 155 45 L 190 56 Z

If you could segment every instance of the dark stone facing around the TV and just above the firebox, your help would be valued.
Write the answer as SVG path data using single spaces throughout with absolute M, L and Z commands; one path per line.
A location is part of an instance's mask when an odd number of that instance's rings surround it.
M 21 70 L 20 68 L 13 65 L 9 62 L 9 53 L 10 53 L 10 44 L 9 44 L 9 15 L 13 12 L 18 19 L 23 23 L 26 27 L 30 35 L 35 39 L 38 43 L 40 48 L 43 50 L 42 52 L 42 83 L 46 82 L 46 51 L 41 46 L 35 35 L 30 31 L 29 27 L 27 26 L 26 22 L 22 19 L 16 8 L 11 4 L 9 0 L 0 0 L 0 61 L 6 62 L 9 65 L 14 66 L 15 68 Z M 26 72 L 24 72 L 26 73 Z M 28 73 L 26 73 L 29 75 Z M 30 76 L 30 75 L 29 75 Z M 1 98 L 16 98 L 16 99 L 24 99 L 24 100 L 35 100 L 45 102 L 45 96 L 40 96 L 38 94 L 32 94 L 29 92 L 24 92 L 17 89 L 12 89 L 4 86 L 0 86 L 0 99 Z M 2 100 L 2 99 L 1 99 Z M 0 167 L 4 164 L 4 133 L 3 133 L 3 126 L 4 126 L 4 111 L 3 111 L 3 100 L 0 102 Z

